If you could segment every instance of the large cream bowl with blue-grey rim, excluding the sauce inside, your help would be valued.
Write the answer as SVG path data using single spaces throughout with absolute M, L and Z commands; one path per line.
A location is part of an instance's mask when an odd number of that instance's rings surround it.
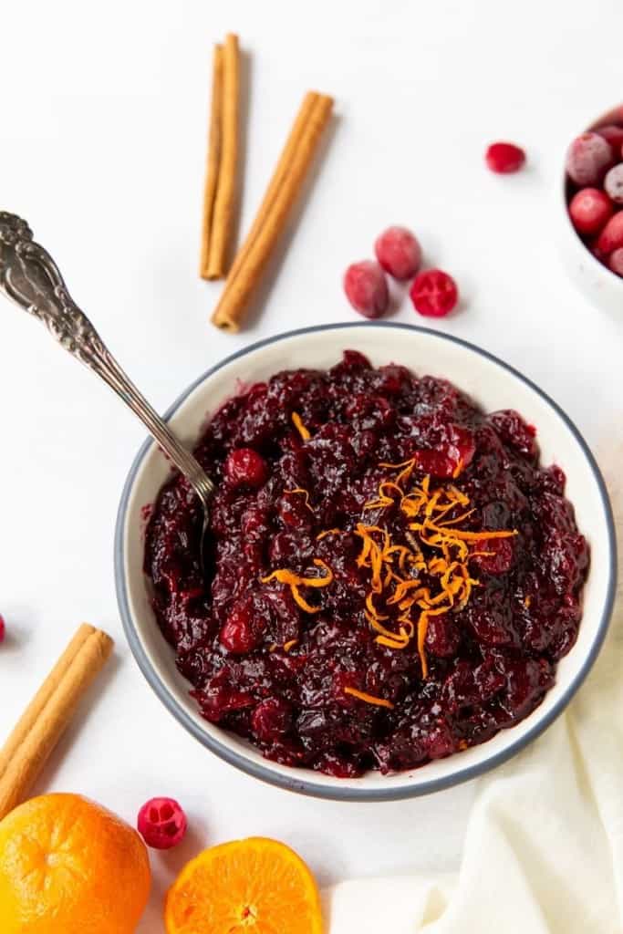
M 567 495 L 591 548 L 591 570 L 584 618 L 577 643 L 559 664 L 556 686 L 526 720 L 503 730 L 488 743 L 424 768 L 395 775 L 376 772 L 360 779 L 336 780 L 293 770 L 264 759 L 249 743 L 207 723 L 189 698 L 189 684 L 177 672 L 174 654 L 149 606 L 142 571 L 145 521 L 142 510 L 154 501 L 169 465 L 153 443 L 139 453 L 120 505 L 116 572 L 120 611 L 135 657 L 169 710 L 219 756 L 264 780 L 323 797 L 388 800 L 423 794 L 470 778 L 513 755 L 560 713 L 592 664 L 607 628 L 615 589 L 615 538 L 610 504 L 599 469 L 569 420 L 540 390 L 502 362 L 476 347 L 443 334 L 402 325 L 337 325 L 282 335 L 224 361 L 202 377 L 176 403 L 170 422 L 187 444 L 197 439 L 206 417 L 242 384 L 263 380 L 279 370 L 326 368 L 354 348 L 375 365 L 400 362 L 419 375 L 450 379 L 486 410 L 516 408 L 538 428 L 545 464 L 556 462 L 567 474 Z

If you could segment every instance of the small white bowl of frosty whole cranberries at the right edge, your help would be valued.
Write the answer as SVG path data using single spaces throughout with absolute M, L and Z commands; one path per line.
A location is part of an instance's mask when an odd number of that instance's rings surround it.
M 588 297 L 606 310 L 623 310 L 623 106 L 577 136 L 563 184 L 569 271 Z M 566 222 L 567 219 L 570 223 Z

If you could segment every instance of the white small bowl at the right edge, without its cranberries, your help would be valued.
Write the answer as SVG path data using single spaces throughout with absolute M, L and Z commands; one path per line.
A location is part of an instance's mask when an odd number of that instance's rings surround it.
M 623 120 L 623 107 L 616 107 L 603 114 L 599 120 L 593 120 L 588 129 L 603 126 L 611 120 L 619 122 Z M 602 311 L 621 318 L 623 316 L 623 278 L 616 276 L 602 265 L 575 233 L 567 206 L 564 166 L 559 189 L 556 191 L 554 210 L 558 220 L 560 255 L 569 276 L 590 302 Z

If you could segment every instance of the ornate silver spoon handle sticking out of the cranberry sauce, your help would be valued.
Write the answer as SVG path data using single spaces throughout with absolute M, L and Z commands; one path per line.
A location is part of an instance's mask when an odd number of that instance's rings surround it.
M 204 510 L 203 568 L 208 504 L 215 490 L 214 483 L 121 370 L 89 318 L 71 298 L 50 254 L 33 242 L 33 232 L 26 221 L 6 211 L 0 211 L 0 290 L 45 324 L 61 347 L 114 389 L 187 478 Z

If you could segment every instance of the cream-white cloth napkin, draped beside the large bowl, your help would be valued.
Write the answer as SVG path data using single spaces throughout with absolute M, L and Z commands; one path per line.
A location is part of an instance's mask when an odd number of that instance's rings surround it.
M 567 712 L 478 780 L 459 873 L 335 885 L 325 893 L 331 934 L 621 934 L 622 659 L 619 590 L 606 644 Z

